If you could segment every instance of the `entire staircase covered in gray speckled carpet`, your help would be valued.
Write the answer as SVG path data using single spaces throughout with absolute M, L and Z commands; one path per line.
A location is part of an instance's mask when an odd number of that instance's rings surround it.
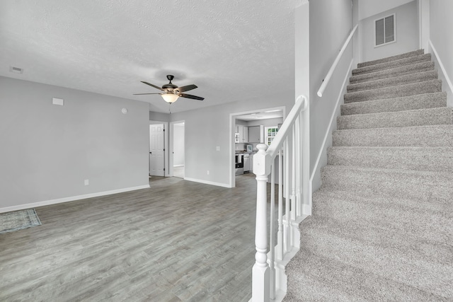
M 453 301 L 447 94 L 423 50 L 357 67 L 284 301 Z

